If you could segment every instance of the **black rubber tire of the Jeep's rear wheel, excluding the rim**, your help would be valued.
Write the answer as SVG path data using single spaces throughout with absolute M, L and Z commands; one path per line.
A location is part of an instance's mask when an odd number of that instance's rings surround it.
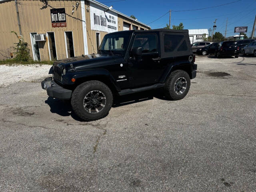
M 185 91 L 179 95 L 175 92 L 175 83 L 181 77 L 186 79 L 187 85 L 186 85 Z M 170 100 L 180 100 L 180 99 L 183 99 L 188 94 L 189 88 L 190 88 L 190 76 L 188 75 L 188 73 L 184 70 L 175 70 L 170 74 L 168 80 L 166 81 L 164 86 L 164 92 L 165 92 L 166 98 Z

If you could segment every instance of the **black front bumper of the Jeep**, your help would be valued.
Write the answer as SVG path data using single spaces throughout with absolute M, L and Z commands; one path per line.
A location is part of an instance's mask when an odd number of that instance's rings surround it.
M 51 77 L 44 79 L 41 82 L 41 86 L 47 91 L 47 94 L 50 97 L 62 100 L 69 100 L 71 98 L 72 90 L 65 89 L 62 86 L 56 84 L 56 82 L 54 82 Z

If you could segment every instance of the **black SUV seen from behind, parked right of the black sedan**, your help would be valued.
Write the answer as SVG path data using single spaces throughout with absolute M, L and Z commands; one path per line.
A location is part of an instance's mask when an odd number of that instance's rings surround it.
M 215 56 L 220 58 L 222 56 L 235 56 L 238 58 L 238 47 L 236 41 L 222 41 L 218 43 L 218 47 L 215 50 Z

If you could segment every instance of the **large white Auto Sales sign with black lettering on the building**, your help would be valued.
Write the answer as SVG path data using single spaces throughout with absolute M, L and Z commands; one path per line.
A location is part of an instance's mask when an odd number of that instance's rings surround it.
M 91 29 L 108 33 L 118 31 L 117 14 L 90 4 Z

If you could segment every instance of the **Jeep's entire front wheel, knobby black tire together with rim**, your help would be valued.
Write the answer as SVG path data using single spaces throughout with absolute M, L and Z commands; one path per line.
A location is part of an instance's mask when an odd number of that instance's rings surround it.
M 75 114 L 85 121 L 94 121 L 108 115 L 113 104 L 113 94 L 100 81 L 84 82 L 72 93 L 71 105 Z

